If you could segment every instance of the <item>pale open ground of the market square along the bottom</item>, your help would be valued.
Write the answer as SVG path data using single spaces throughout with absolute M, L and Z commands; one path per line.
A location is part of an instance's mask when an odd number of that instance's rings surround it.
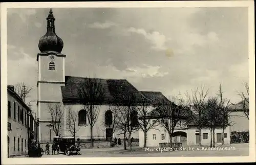
M 145 151 L 145 149 L 134 149 L 134 151 L 116 149 L 84 149 L 81 155 L 66 156 L 64 153 L 56 155 L 43 155 L 42 157 L 179 157 L 179 156 L 248 156 L 249 144 L 232 144 L 232 150 L 205 150 L 200 151 Z

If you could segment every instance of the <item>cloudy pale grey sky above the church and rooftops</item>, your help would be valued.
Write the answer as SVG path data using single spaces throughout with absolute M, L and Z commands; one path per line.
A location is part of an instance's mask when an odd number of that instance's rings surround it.
M 7 10 L 8 84 L 25 82 L 37 100 L 39 38 L 48 8 Z M 208 8 L 53 8 L 67 55 L 66 76 L 127 79 L 167 98 L 202 85 L 240 101 L 248 82 L 248 11 Z M 32 107 L 36 109 L 36 104 Z

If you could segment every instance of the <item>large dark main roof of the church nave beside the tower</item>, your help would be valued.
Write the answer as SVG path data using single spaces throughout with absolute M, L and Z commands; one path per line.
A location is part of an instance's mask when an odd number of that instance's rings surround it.
M 79 96 L 79 89 L 83 82 L 90 79 L 100 83 L 104 91 L 104 98 L 98 100 L 97 103 L 122 103 L 129 101 L 129 96 L 134 96 L 136 102 L 144 98 L 144 96 L 127 80 L 124 79 L 100 79 L 100 78 L 84 78 L 84 77 L 65 77 L 65 86 L 61 86 L 63 104 L 80 104 L 83 102 Z

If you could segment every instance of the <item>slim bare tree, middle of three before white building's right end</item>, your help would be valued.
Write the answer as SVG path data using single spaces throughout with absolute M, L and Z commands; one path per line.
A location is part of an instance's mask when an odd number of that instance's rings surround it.
M 210 130 L 210 147 L 215 147 L 215 129 L 219 125 L 220 109 L 217 97 L 211 97 L 206 104 L 203 115 L 204 123 Z

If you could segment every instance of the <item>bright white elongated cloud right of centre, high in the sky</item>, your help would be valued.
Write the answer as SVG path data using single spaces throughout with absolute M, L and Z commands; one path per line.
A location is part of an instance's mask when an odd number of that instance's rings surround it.
M 157 31 L 150 33 L 147 32 L 145 29 L 136 29 L 131 27 L 127 29 L 127 32 L 143 35 L 147 40 L 149 40 L 153 44 L 152 49 L 154 50 L 163 51 L 167 49 L 166 42 L 169 40 L 169 38 L 167 38 L 165 35 Z

